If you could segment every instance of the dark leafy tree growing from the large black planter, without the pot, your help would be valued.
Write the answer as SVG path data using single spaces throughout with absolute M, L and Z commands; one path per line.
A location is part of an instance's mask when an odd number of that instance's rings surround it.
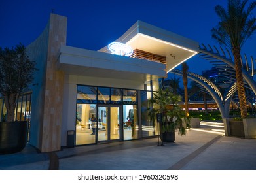
M 35 62 L 27 56 L 24 45 L 0 48 L 0 95 L 5 98 L 7 121 L 14 120 L 18 95 L 28 90 L 35 71 Z

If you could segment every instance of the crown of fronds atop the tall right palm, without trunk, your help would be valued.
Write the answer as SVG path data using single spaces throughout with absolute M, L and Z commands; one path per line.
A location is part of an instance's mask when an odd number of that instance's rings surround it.
M 251 16 L 256 2 L 249 3 L 247 9 L 246 4 L 247 0 L 228 0 L 227 10 L 221 5 L 215 7 L 220 22 L 211 29 L 213 39 L 230 49 L 243 46 L 256 30 L 256 18 Z

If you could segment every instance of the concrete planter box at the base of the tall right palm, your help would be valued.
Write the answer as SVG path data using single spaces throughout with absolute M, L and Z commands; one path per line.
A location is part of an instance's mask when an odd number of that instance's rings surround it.
M 242 121 L 225 118 L 223 123 L 226 136 L 243 137 L 246 139 L 256 138 L 256 118 L 247 118 Z

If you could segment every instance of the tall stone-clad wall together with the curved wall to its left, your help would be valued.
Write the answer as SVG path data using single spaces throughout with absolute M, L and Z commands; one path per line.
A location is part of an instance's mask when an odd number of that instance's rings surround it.
M 27 46 L 28 52 L 41 55 L 34 56 L 40 73 L 35 82 L 40 82 L 33 87 L 30 143 L 41 152 L 51 152 L 60 150 L 64 73 L 56 69 L 56 61 L 60 46 L 66 44 L 67 18 L 50 14 L 42 35 Z

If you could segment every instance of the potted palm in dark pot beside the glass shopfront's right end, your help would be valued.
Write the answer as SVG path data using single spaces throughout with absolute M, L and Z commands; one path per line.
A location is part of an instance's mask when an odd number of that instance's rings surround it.
M 156 114 L 162 114 L 162 122 L 160 122 L 160 138 L 163 142 L 175 141 L 175 130 L 179 135 L 186 134 L 186 128 L 189 127 L 189 117 L 185 116 L 185 112 L 179 107 L 178 102 L 181 96 L 175 95 L 168 89 L 159 89 L 153 93 L 153 99 L 149 100 L 149 117 L 151 121 L 155 121 Z M 172 108 L 168 105 L 172 104 Z

